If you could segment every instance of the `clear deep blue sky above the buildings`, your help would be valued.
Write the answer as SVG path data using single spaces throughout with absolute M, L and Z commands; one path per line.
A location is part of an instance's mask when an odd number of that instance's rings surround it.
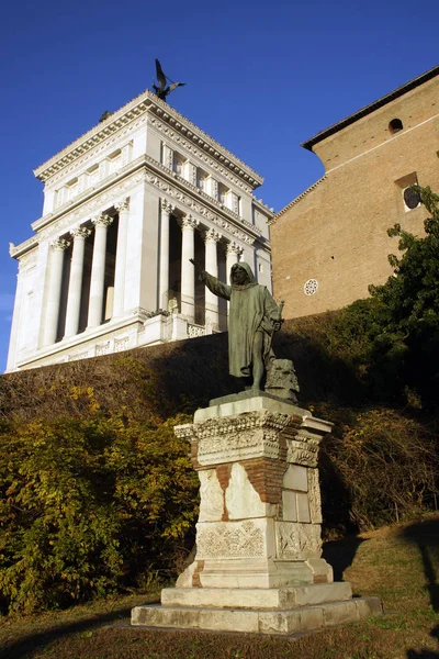
M 16 261 L 43 183 L 32 170 L 150 86 L 266 182 L 281 210 L 323 174 L 300 143 L 436 66 L 437 0 L 16 0 L 1 10 L 0 371 Z M 361 203 L 361 200 L 359 200 Z

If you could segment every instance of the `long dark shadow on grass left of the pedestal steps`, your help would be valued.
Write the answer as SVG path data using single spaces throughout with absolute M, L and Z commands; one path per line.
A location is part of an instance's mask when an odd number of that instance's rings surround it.
M 149 603 L 153 603 L 153 601 Z M 0 648 L 0 659 L 23 659 L 24 657 L 32 657 L 32 654 L 36 649 L 63 638 L 63 636 L 88 632 L 101 627 L 104 624 L 114 623 L 122 618 L 130 618 L 131 610 L 132 606 L 116 608 L 111 613 L 91 615 L 77 622 L 57 625 L 56 627 L 56 623 L 54 623 L 50 628 L 44 632 L 29 634 L 27 636 L 23 636 L 15 641 L 7 644 L 5 647 Z

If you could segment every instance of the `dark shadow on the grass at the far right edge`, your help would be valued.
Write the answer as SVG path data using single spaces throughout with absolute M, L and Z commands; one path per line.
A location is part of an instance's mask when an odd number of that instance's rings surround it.
M 430 596 L 432 610 L 439 613 L 439 584 L 437 582 L 437 566 L 439 565 L 439 520 L 427 520 L 410 524 L 403 529 L 402 535 L 417 545 L 423 559 L 426 588 Z M 439 643 L 439 625 L 430 632 L 430 636 Z M 407 651 L 407 659 L 439 659 L 439 652 L 431 650 Z

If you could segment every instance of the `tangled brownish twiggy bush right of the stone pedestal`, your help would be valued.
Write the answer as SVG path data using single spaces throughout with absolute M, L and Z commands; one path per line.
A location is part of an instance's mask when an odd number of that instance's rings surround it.
M 320 458 L 327 528 L 371 528 L 409 518 L 432 503 L 439 471 L 437 434 L 402 412 L 339 411 Z

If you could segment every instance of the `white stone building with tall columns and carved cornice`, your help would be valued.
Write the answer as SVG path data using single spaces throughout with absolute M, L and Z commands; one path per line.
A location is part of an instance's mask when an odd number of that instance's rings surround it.
M 189 258 L 223 280 L 245 260 L 271 291 L 263 179 L 149 91 L 35 176 L 43 216 L 10 247 L 8 371 L 226 330 Z

